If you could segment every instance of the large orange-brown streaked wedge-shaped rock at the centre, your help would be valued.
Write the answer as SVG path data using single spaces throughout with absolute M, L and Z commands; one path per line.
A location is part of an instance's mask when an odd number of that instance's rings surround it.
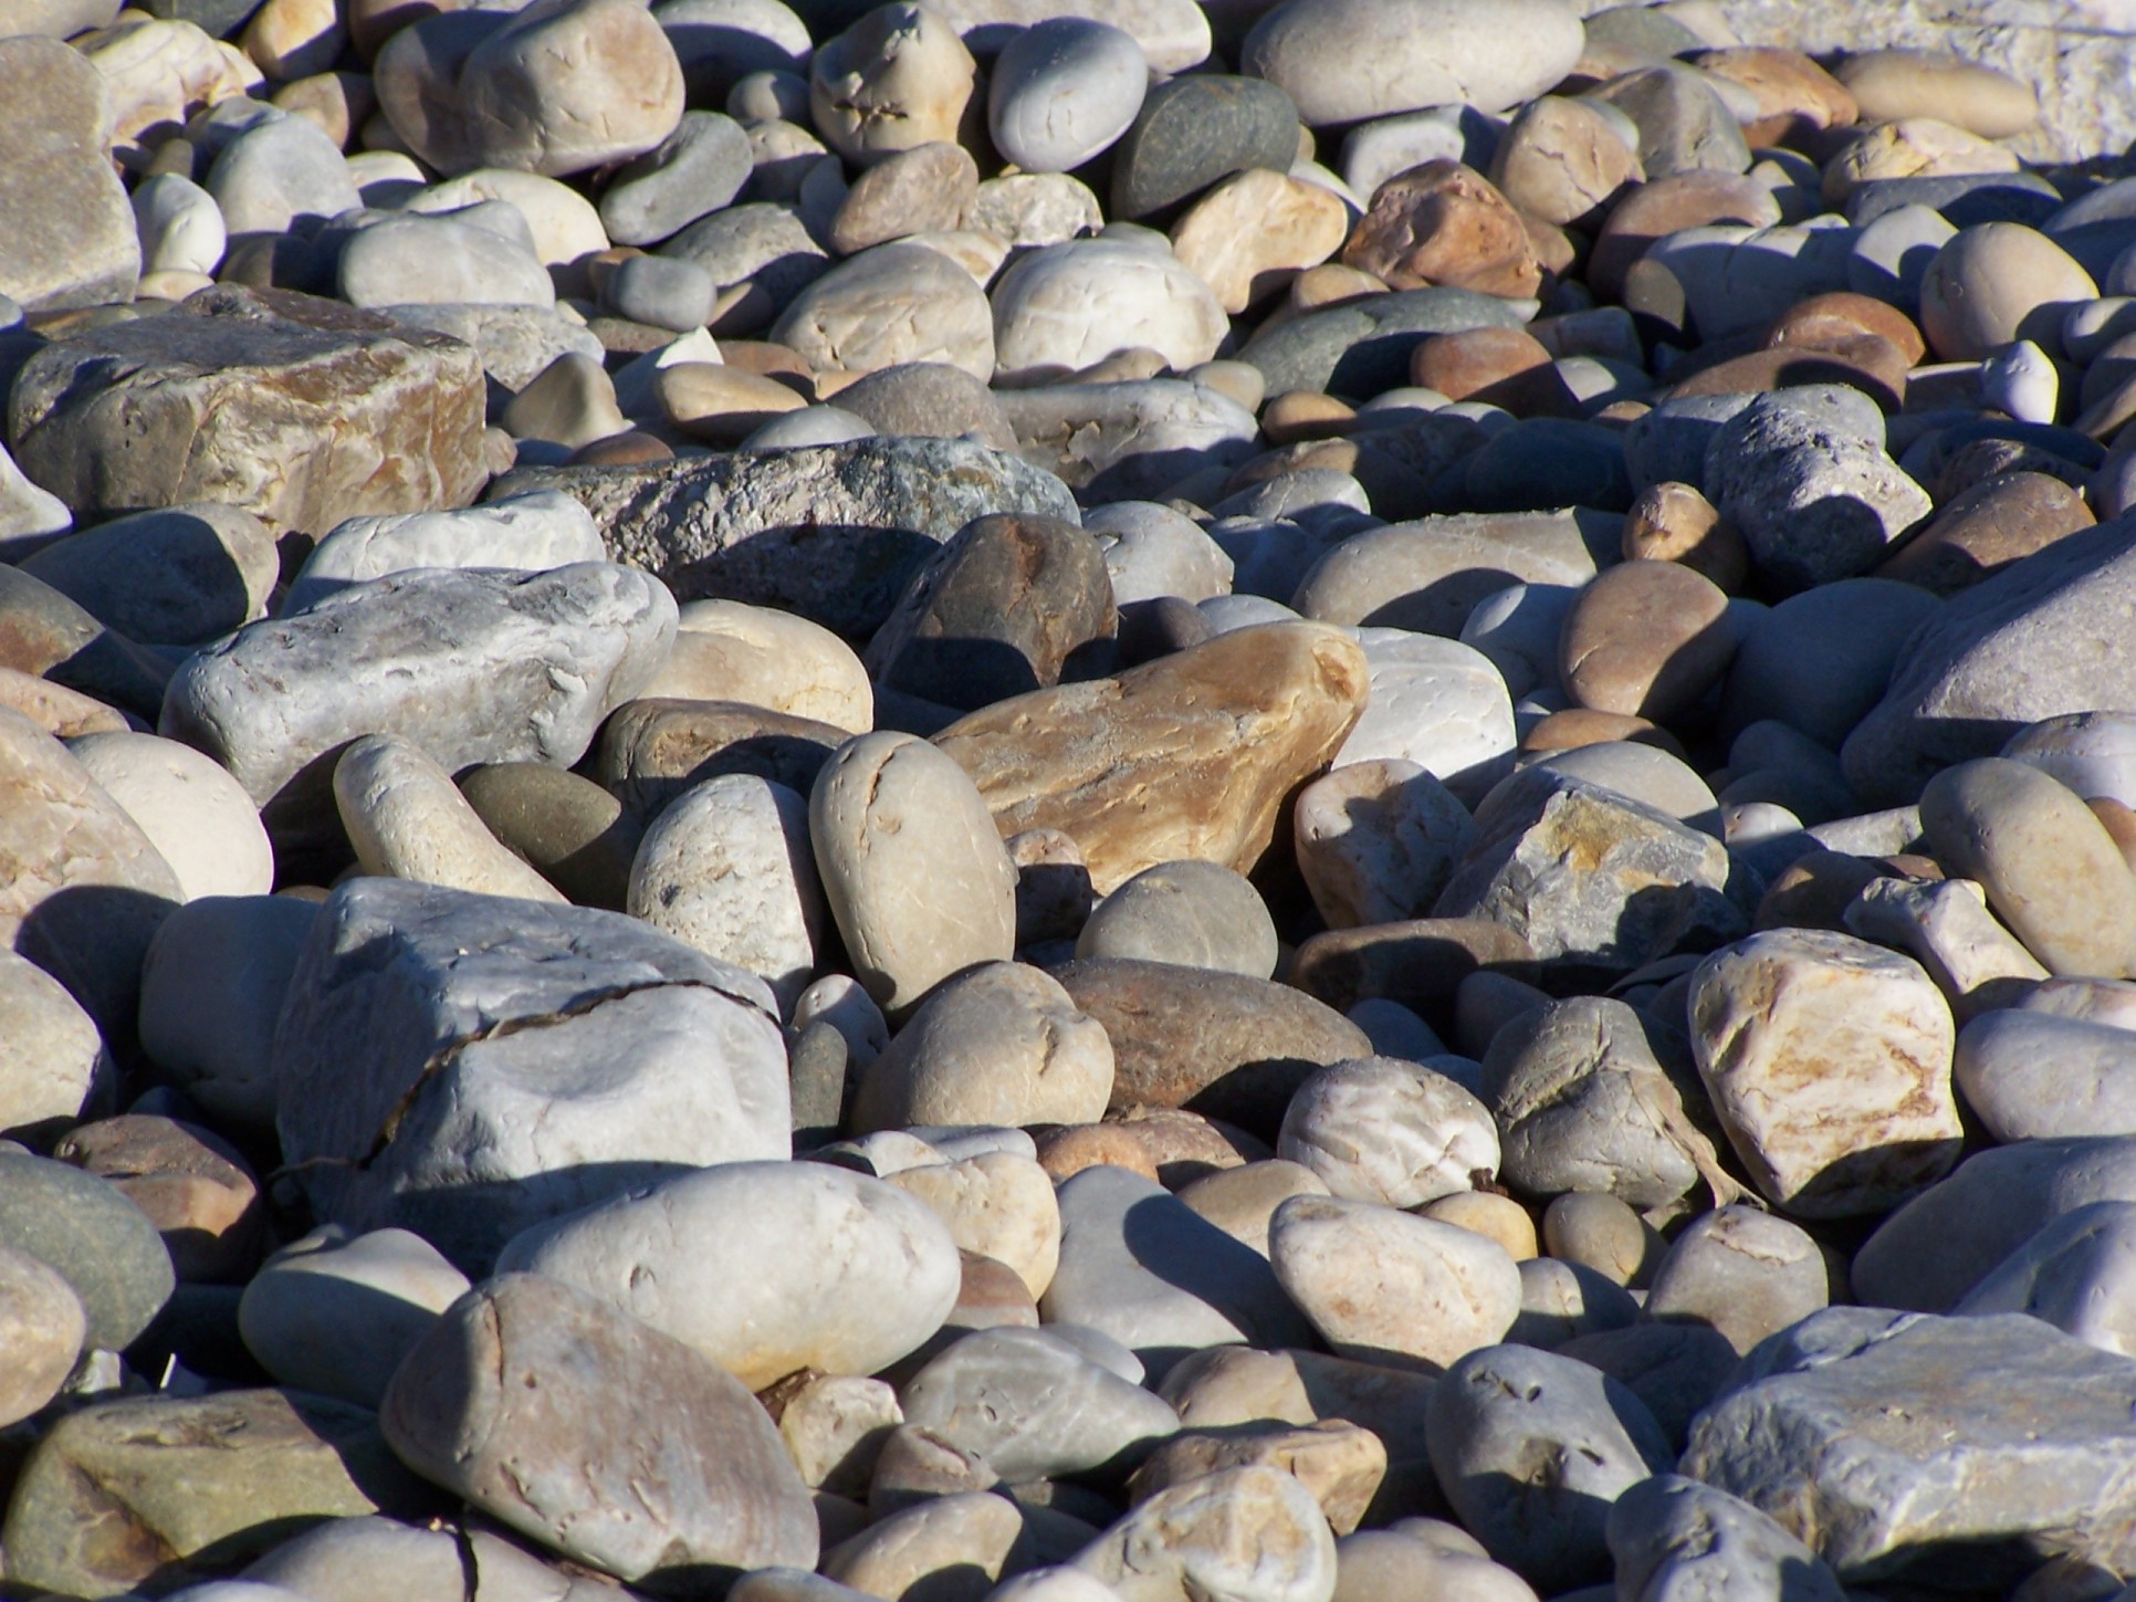
M 1117 679 L 998 701 L 936 743 L 1002 835 L 1059 829 L 1109 895 L 1181 857 L 1252 869 L 1284 799 L 1337 752 L 1367 692 L 1365 651 L 1341 630 L 1260 624 Z

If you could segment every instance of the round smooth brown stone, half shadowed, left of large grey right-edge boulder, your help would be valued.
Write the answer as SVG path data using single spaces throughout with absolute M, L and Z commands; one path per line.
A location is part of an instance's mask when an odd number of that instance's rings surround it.
M 1670 722 L 1734 658 L 1728 596 L 1675 562 L 1619 562 L 1581 590 L 1557 641 L 1557 675 L 1579 705 Z

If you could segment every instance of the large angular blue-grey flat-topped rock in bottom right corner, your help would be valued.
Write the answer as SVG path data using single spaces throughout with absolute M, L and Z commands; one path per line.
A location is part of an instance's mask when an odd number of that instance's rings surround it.
M 1747 1358 L 1681 1467 L 1850 1583 L 1961 1542 L 1969 1585 L 2055 1557 L 2127 1572 L 2132 1414 L 2136 1365 L 2036 1318 L 1831 1307 Z

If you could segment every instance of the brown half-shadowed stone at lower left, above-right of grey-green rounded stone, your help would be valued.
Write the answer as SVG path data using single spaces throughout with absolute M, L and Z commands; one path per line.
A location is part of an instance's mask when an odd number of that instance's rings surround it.
M 51 1156 L 109 1179 L 147 1213 L 182 1284 L 252 1271 L 265 1222 L 258 1179 L 214 1130 L 128 1113 L 79 1126 Z

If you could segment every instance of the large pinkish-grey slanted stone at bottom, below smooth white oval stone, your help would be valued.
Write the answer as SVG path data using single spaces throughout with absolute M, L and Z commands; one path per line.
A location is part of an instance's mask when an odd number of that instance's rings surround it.
M 423 1478 L 626 1581 L 816 1561 L 807 1487 L 756 1397 L 540 1275 L 455 1301 L 402 1361 L 378 1423 Z

